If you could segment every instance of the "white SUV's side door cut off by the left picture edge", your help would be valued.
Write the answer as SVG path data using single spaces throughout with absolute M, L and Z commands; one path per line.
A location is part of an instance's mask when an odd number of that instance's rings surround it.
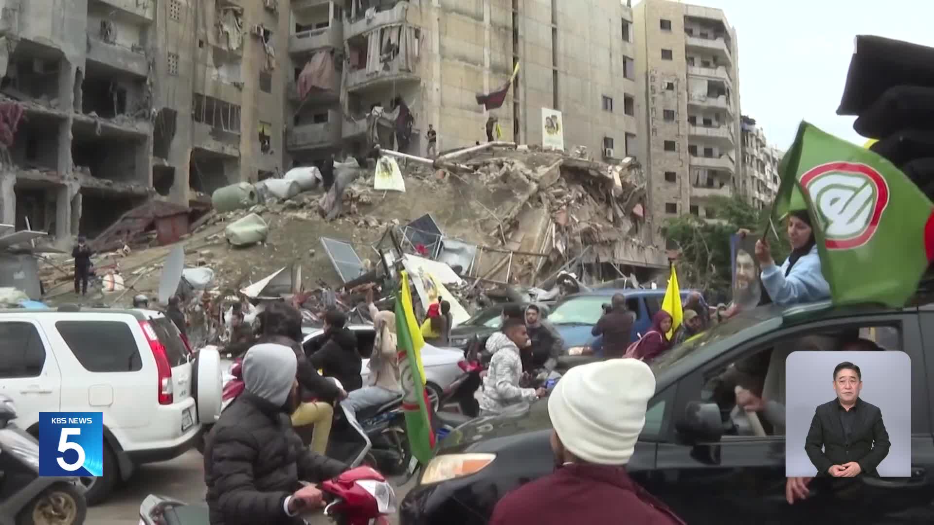
M 16 404 L 23 428 L 39 412 L 58 412 L 62 374 L 41 325 L 34 319 L 0 321 L 0 394 Z

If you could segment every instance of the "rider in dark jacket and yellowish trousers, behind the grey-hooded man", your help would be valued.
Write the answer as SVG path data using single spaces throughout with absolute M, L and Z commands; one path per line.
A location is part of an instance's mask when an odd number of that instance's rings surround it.
M 315 425 L 311 449 L 324 454 L 333 421 L 333 402 L 347 399 L 347 391 L 320 376 L 302 349 L 302 314 L 286 303 L 268 305 L 257 315 L 260 343 L 277 343 L 292 349 L 297 360 L 295 378 L 299 383 L 298 408 L 291 413 L 293 426 Z M 248 350 L 249 353 L 249 350 Z

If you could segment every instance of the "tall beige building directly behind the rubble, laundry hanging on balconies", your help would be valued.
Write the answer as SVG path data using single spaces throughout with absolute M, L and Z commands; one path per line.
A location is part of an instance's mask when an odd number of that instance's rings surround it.
M 573 4 L 573 5 L 572 5 Z M 558 109 L 566 149 L 614 161 L 637 148 L 634 43 L 619 0 L 293 0 L 287 148 L 290 165 L 359 155 L 374 143 L 424 155 L 485 141 L 541 144 Z M 519 73 L 501 107 L 476 95 Z

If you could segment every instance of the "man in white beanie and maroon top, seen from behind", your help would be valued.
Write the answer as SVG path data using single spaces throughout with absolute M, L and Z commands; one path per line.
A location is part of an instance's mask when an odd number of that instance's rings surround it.
M 490 525 L 684 525 L 626 472 L 655 395 L 655 376 L 636 359 L 575 366 L 548 399 L 557 470 L 507 493 Z

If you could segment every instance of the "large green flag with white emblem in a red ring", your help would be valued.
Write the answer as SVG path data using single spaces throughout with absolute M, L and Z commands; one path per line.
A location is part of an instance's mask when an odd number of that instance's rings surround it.
M 899 307 L 934 257 L 934 205 L 894 164 L 801 122 L 772 217 L 807 209 L 835 305 Z

